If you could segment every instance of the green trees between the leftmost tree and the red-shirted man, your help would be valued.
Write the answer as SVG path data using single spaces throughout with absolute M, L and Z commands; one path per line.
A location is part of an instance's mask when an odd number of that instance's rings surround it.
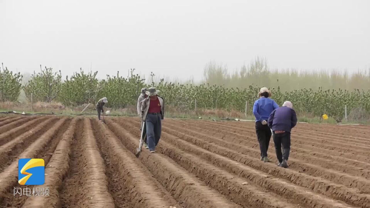
M 61 71 L 53 72 L 52 68 L 41 68 L 40 72 L 31 75 L 30 80 L 23 86 L 28 100 L 31 96 L 34 101 L 51 102 L 60 101 L 64 105 L 82 105 L 96 103 L 101 97 L 109 97 L 109 106 L 121 108 L 133 104 L 137 99 L 139 90 L 144 87 L 144 79 L 134 74 L 124 78 L 119 75 L 109 76 L 99 81 L 96 72 L 85 73 L 82 68 L 73 76 L 66 76 L 62 82 Z M 134 100 L 134 101 L 133 101 Z

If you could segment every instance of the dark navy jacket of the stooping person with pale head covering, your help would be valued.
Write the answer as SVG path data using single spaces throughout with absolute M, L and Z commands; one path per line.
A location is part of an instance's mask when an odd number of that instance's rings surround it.
M 292 128 L 297 124 L 296 111 L 286 106 L 280 107 L 272 111 L 267 125 L 272 131 L 292 131 Z

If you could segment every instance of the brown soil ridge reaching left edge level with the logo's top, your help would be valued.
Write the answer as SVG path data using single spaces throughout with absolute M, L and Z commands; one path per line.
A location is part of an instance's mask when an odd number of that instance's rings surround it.
M 56 118 L 49 118 L 40 124 L 36 125 L 30 131 L 14 138 L 10 142 L 0 146 L 0 172 L 10 165 L 15 157 L 20 154 L 28 145 L 34 142 L 40 135 L 46 132 L 52 125 Z

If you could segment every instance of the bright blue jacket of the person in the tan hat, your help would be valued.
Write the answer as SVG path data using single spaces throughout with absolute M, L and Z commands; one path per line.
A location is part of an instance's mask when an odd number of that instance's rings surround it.
M 274 100 L 265 97 L 259 98 L 253 105 L 253 114 L 256 117 L 256 122 L 262 122 L 263 120 L 267 121 L 271 112 L 277 108 L 279 108 L 279 105 L 277 105 Z

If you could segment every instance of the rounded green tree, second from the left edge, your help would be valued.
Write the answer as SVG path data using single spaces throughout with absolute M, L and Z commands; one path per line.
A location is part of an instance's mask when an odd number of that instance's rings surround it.
M 46 68 L 43 70 L 40 65 L 41 72 L 33 73 L 28 83 L 24 85 L 23 90 L 28 100 L 31 100 L 31 93 L 33 101 L 51 102 L 58 97 L 62 89 L 62 75 L 53 73 L 53 68 Z

